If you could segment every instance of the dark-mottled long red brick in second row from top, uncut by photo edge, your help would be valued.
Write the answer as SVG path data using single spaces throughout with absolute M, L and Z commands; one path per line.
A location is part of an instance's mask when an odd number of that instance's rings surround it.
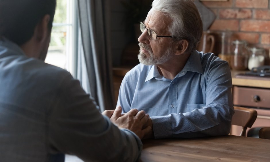
M 221 9 L 219 11 L 220 19 L 247 19 L 252 17 L 250 9 Z

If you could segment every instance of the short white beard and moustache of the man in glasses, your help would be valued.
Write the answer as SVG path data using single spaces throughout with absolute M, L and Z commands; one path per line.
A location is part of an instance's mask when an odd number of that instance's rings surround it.
M 157 57 L 153 54 L 153 51 L 149 45 L 144 44 L 144 43 L 139 43 L 139 46 L 140 46 L 140 53 L 138 54 L 138 59 L 140 63 L 144 65 L 161 65 L 167 62 L 173 56 L 171 54 L 172 53 L 171 48 L 168 48 L 168 50 L 162 56 Z M 149 57 L 147 57 L 146 54 L 142 52 L 142 48 L 149 53 Z

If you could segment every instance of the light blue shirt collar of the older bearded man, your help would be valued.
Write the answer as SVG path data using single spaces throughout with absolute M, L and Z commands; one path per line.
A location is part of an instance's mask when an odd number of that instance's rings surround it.
M 157 66 L 155 65 L 150 65 L 150 66 L 151 66 L 151 69 L 145 79 L 145 82 L 151 80 L 152 78 L 155 78 L 157 80 L 162 80 L 162 76 L 159 74 L 159 71 L 157 70 Z M 199 55 L 199 52 L 196 50 L 190 54 L 186 62 L 186 65 L 184 66 L 182 71 L 180 71 L 180 73 L 176 75 L 176 77 L 181 77 L 185 75 L 187 71 L 192 71 L 192 72 L 200 73 L 200 74 L 203 73 L 200 55 Z

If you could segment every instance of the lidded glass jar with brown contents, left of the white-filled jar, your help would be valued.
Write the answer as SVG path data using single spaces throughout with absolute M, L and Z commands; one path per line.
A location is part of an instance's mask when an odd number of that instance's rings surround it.
M 232 42 L 232 55 L 230 65 L 232 70 L 246 70 L 248 68 L 248 49 L 245 40 Z

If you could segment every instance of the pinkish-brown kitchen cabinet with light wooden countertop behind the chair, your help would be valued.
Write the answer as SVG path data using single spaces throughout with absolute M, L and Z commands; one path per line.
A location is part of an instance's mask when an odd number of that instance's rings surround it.
M 252 128 L 270 126 L 270 79 L 237 78 L 239 72 L 232 71 L 232 94 L 235 106 L 252 108 L 258 116 Z M 239 135 L 239 126 L 232 126 L 231 134 Z M 250 128 L 247 129 L 247 132 Z

